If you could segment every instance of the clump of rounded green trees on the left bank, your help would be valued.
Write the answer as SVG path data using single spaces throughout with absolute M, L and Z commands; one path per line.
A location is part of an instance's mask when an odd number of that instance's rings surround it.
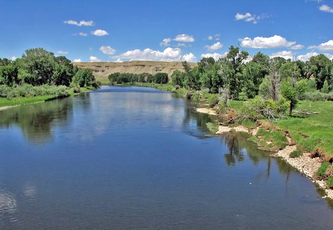
M 64 56 L 54 56 L 43 48 L 26 50 L 21 58 L 0 58 L 0 84 L 30 84 L 98 87 L 92 70 L 80 69 Z

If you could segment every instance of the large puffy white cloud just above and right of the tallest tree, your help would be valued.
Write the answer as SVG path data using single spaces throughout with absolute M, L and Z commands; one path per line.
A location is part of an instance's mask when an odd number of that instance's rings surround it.
M 257 49 L 291 47 L 296 43 L 296 41 L 287 41 L 287 39 L 279 35 L 274 35 L 273 37 L 255 37 L 254 39 L 245 37 L 239 40 L 242 47 Z

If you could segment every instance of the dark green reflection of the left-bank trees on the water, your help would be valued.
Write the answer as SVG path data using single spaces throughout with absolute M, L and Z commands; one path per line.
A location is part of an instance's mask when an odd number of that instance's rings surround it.
M 71 109 L 71 99 L 15 107 L 0 112 L 0 127 L 16 125 L 29 141 L 45 143 L 53 138 L 52 122 L 66 121 Z

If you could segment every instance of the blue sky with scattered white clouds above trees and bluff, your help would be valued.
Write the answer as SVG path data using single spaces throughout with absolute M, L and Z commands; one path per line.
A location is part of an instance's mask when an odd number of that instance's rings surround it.
M 72 61 L 199 61 L 251 55 L 333 58 L 333 0 L 4 1 L 0 57 L 42 47 Z

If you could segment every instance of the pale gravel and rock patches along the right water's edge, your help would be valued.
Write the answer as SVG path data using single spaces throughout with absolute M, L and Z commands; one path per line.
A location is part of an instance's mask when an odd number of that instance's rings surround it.
M 216 112 L 212 109 L 196 109 L 198 112 L 203 112 L 207 114 L 212 114 Z M 213 111 L 213 112 L 212 112 Z M 222 134 L 225 132 L 246 132 L 252 136 L 256 136 L 259 127 L 255 129 L 248 129 L 242 125 L 236 127 L 228 127 L 228 126 L 219 126 L 219 130 L 215 134 Z M 322 198 L 329 198 L 333 200 L 333 189 L 328 189 L 326 187 L 326 183 L 323 180 L 315 180 L 316 172 L 322 164 L 322 159 L 319 157 L 311 158 L 311 154 L 308 152 L 303 152 L 303 154 L 299 157 L 292 158 L 290 157 L 290 153 L 297 149 L 296 143 L 293 143 L 290 138 L 288 138 L 289 145 L 287 145 L 284 149 L 277 151 L 270 156 L 272 157 L 281 157 L 285 160 L 286 163 L 296 168 L 303 175 L 307 176 L 311 179 L 319 188 L 325 190 L 326 196 Z

